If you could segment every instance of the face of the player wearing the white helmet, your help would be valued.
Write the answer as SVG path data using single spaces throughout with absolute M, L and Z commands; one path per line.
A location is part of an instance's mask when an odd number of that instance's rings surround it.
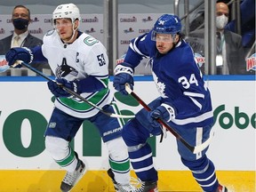
M 70 19 L 56 19 L 54 25 L 64 42 L 68 41 L 73 35 L 73 23 Z

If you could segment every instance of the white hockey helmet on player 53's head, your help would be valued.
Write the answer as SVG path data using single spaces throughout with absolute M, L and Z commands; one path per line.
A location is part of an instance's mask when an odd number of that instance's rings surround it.
M 76 4 L 60 4 L 52 12 L 52 20 L 70 18 L 72 22 L 75 20 L 81 20 L 80 12 Z

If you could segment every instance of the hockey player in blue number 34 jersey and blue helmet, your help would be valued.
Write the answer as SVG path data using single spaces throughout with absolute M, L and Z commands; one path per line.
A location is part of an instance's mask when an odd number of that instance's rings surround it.
M 180 19 L 164 14 L 148 33 L 132 39 L 124 62 L 116 65 L 114 86 L 127 94 L 125 84 L 133 87 L 133 71 L 142 58 L 149 58 L 152 75 L 160 97 L 148 104 L 152 110 L 141 109 L 124 125 L 123 138 L 128 146 L 134 172 L 142 180 L 140 192 L 156 192 L 157 171 L 153 165 L 150 134 L 159 135 L 158 118 L 167 122 L 187 142 L 196 146 L 210 136 L 213 124 L 211 95 L 204 84 L 190 46 L 181 38 Z M 216 177 L 214 164 L 206 156 L 207 148 L 193 154 L 177 140 L 181 162 L 192 172 L 204 191 L 226 192 Z

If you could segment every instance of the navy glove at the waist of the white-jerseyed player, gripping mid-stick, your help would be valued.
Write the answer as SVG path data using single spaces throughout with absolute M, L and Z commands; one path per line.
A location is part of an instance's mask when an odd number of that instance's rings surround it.
M 80 94 L 81 92 L 78 90 L 78 81 L 69 82 L 64 78 L 57 78 L 55 81 L 49 81 L 48 88 L 52 92 L 55 97 L 70 97 L 71 94 L 66 92 L 62 87 L 66 87 L 69 90 Z

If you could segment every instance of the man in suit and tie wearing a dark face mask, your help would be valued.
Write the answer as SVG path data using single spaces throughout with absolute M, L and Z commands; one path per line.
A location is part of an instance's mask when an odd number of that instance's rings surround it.
M 43 44 L 43 41 L 28 32 L 30 24 L 30 11 L 24 5 L 16 5 L 12 11 L 13 33 L 0 40 L 0 55 L 5 55 L 12 47 L 34 47 Z M 50 69 L 47 62 L 33 63 L 33 68 L 42 71 L 43 68 Z M 11 70 L 6 71 L 6 75 L 11 75 Z M 21 74 L 21 76 L 27 74 Z

